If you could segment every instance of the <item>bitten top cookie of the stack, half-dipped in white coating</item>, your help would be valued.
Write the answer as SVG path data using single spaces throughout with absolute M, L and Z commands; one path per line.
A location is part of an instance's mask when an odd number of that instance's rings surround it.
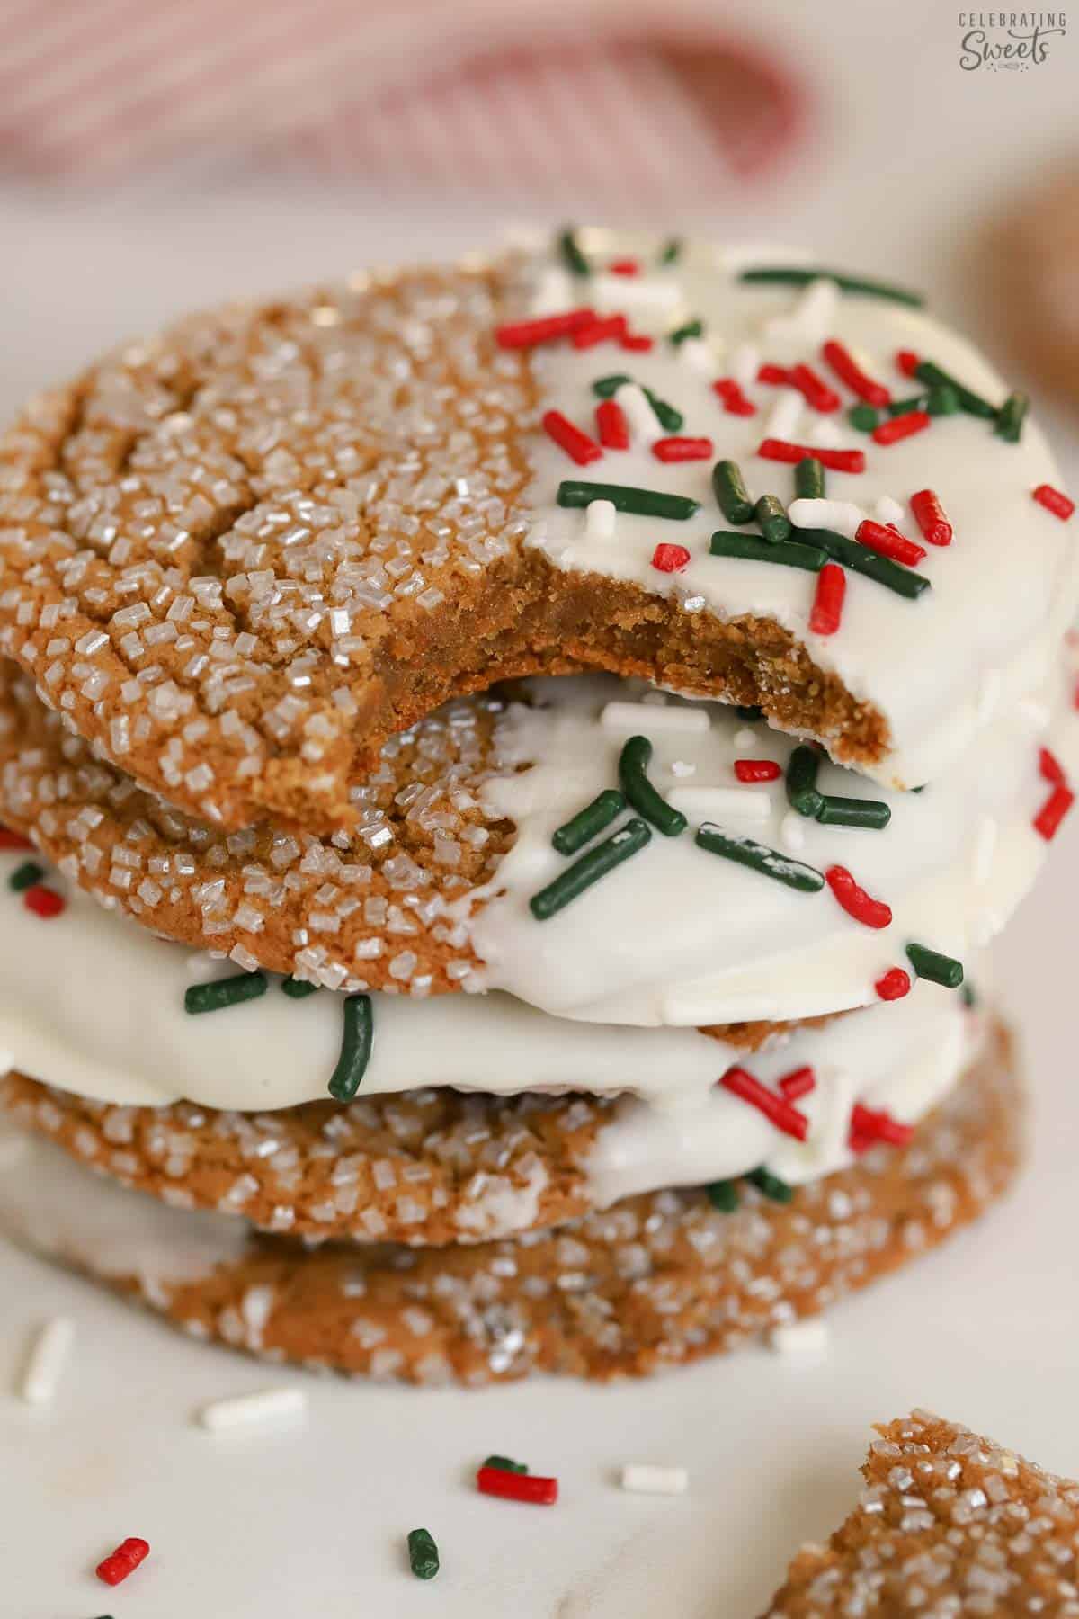
M 0 651 L 105 756 L 226 827 L 340 824 L 387 735 L 568 661 L 760 701 L 903 787 L 940 774 L 980 729 L 987 682 L 1016 696 L 1045 677 L 1069 612 L 1071 533 L 1030 500 L 1060 482 L 1037 429 L 1008 444 L 959 411 L 867 442 L 759 384 L 746 353 L 820 366 L 841 340 L 896 392 L 895 351 L 912 348 L 993 405 L 1006 389 L 888 300 L 744 283 L 746 257 L 715 248 L 658 264 L 644 244 L 644 274 L 607 275 L 620 244 L 581 243 L 597 274 L 544 246 L 194 316 L 37 398 L 0 445 Z M 506 319 L 582 303 L 655 343 L 498 346 Z M 665 338 L 692 317 L 702 337 Z M 755 414 L 723 408 L 728 371 Z M 689 521 L 620 512 L 607 539 L 556 505 L 581 468 L 540 419 L 553 406 L 590 432 L 605 372 L 634 379 L 631 444 L 589 471 L 699 500 Z M 754 499 L 793 494 L 793 468 L 757 455 L 768 436 L 864 450 L 862 474 L 828 479 L 870 516 L 933 487 L 954 541 L 919 568 L 932 589 L 851 575 L 843 623 L 814 635 L 810 575 L 710 555 L 709 461 L 649 444 L 676 418 L 744 463 Z M 662 541 L 688 563 L 654 567 Z

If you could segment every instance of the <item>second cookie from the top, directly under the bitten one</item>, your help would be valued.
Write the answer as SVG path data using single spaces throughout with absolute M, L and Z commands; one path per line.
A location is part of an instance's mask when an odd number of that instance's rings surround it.
M 898 793 L 723 704 L 540 678 L 393 738 L 359 826 L 315 839 L 165 806 L 11 675 L 0 818 L 105 905 L 228 952 L 223 975 L 508 989 L 605 1023 L 804 1018 L 895 999 L 916 975 L 959 984 L 1071 805 L 1074 711 L 1053 693 L 1003 706 L 951 771 Z M 18 905 L 0 926 L 13 957 L 40 954 Z M 53 947 L 116 950 L 116 979 L 152 958 L 142 929 L 125 942 L 74 894 Z

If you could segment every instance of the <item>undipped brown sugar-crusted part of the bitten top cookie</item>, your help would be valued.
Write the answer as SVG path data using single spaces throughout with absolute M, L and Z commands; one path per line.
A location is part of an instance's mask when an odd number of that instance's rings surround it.
M 576 665 L 759 703 L 875 761 L 880 712 L 775 618 L 524 547 L 537 384 L 495 343 L 506 290 L 506 266 L 354 278 L 193 316 L 39 397 L 0 440 L 0 651 L 231 829 L 346 824 L 387 737 Z

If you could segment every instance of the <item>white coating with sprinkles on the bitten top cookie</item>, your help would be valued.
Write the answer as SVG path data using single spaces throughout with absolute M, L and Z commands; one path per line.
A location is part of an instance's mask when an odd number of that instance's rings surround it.
M 678 264 L 660 269 L 652 241 L 615 241 L 603 232 L 582 232 L 581 241 L 595 262 L 602 262 L 603 253 L 639 251 L 645 274 L 571 280 L 544 248 L 524 261 L 521 311 L 539 312 L 537 290 L 542 288 L 542 312 L 584 303 L 600 312 L 624 311 L 636 332 L 654 334 L 657 342 L 650 353 L 631 353 L 616 342 L 586 350 L 561 342 L 535 350 L 544 408 L 563 411 L 594 434 L 599 402 L 592 382 L 624 372 L 676 406 L 684 416 L 679 432 L 712 439 L 715 453 L 681 465 L 658 461 L 652 442 L 663 437 L 665 429 L 655 419 L 649 423 L 639 410 L 628 411 L 629 450 L 607 450 L 589 466 L 574 465 L 537 432 L 531 447 L 535 470 L 531 544 L 542 547 L 561 568 L 605 573 L 675 596 L 688 612 L 709 609 L 730 618 L 743 614 L 775 618 L 806 644 L 822 669 L 835 672 L 856 698 L 872 703 L 886 717 L 891 751 L 870 774 L 898 787 L 935 780 L 984 730 L 987 680 L 1000 682 L 1005 701 L 1034 691 L 1045 680 L 1056 640 L 1076 606 L 1076 528 L 1030 499 L 1040 482 L 1060 487 L 1043 436 L 1027 421 L 1022 440 L 1006 444 L 993 436 L 990 421 L 958 413 L 933 418 L 925 432 L 911 439 L 877 445 L 846 421 L 848 406 L 857 400 L 822 361 L 827 338 L 844 343 L 893 398 L 924 392 L 922 384 L 896 369 L 898 350 L 914 350 L 935 361 L 992 405 L 1003 402 L 1008 387 L 969 343 L 917 309 L 838 293 L 827 282 L 807 290 L 739 283 L 738 270 L 760 262 L 751 249 L 734 253 L 688 244 Z M 775 262 L 775 251 L 767 259 Z M 786 262 L 807 264 L 812 257 L 791 253 Z M 555 298 L 556 290 L 561 303 Z M 713 355 L 710 371 L 700 369 L 697 345 L 676 348 L 663 337 L 692 317 L 705 322 L 704 343 Z M 751 364 L 744 364 L 747 351 L 752 351 Z M 746 392 L 757 405 L 755 416 L 728 414 L 712 392 L 713 379 L 739 369 L 736 359 L 743 363 Z M 810 364 L 840 393 L 843 408 L 822 414 L 794 389 L 757 384 L 759 363 Z M 620 392 L 618 398 L 628 405 L 636 395 L 628 400 Z M 634 426 L 637 419 L 639 427 Z M 754 500 L 772 492 L 786 505 L 794 494 L 793 466 L 755 453 L 767 436 L 864 450 L 864 473 L 827 473 L 828 499 L 854 504 L 867 516 L 875 515 L 880 502 L 898 502 L 903 508 L 899 526 L 916 541 L 920 534 L 909 497 L 920 489 L 935 491 L 954 528 L 954 541 L 946 549 L 927 547 L 929 555 L 917 572 L 932 581 L 932 589 L 917 601 L 906 601 L 848 573 L 840 631 L 819 636 L 809 630 L 812 575 L 710 557 L 712 533 L 731 528 L 710 489 L 715 460 L 731 458 L 741 465 Z M 555 504 L 565 478 L 691 495 L 700 502 L 700 510 L 689 521 L 620 513 L 608 538 L 587 523 L 586 512 Z M 757 533 L 757 525 L 747 525 L 744 533 Z M 660 573 L 650 565 L 662 541 L 689 549 L 684 572 Z

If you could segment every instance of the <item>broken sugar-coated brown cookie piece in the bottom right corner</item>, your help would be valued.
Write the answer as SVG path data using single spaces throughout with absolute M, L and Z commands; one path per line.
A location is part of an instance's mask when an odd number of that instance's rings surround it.
M 1079 1485 L 932 1412 L 877 1433 L 857 1507 L 764 1619 L 1079 1614 Z

